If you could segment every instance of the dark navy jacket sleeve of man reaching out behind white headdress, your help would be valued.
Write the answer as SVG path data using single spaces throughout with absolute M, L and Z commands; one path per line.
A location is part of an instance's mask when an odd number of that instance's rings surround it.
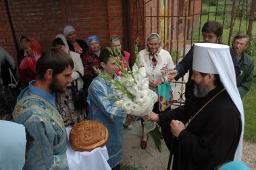
M 175 80 L 179 80 L 182 76 L 184 76 L 190 68 L 192 68 L 193 64 L 193 52 L 194 46 L 188 51 L 184 59 L 176 65 L 176 69 L 178 70 L 178 75 L 176 76 Z

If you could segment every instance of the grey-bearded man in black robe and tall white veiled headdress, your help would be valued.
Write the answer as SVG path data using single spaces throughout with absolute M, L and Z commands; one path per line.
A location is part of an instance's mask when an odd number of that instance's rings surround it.
M 165 144 L 174 150 L 172 169 L 215 169 L 240 160 L 244 115 L 230 47 L 195 44 L 191 78 L 192 100 L 149 116 L 159 121 Z

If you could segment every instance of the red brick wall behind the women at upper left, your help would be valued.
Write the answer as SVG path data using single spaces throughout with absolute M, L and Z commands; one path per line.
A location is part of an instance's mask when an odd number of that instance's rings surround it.
M 9 0 L 7 2 L 17 39 L 22 35 L 35 38 L 40 42 L 43 50 L 51 47 L 55 36 L 62 34 L 63 28 L 67 25 L 74 26 L 77 37 L 83 40 L 96 34 L 102 47 L 107 45 L 109 36 L 113 34 L 123 36 L 122 0 Z M 130 3 L 132 20 L 136 13 L 132 12 L 133 1 Z M 140 2 L 140 5 L 142 5 L 140 9 L 143 10 L 143 3 Z M 136 20 L 139 20 L 140 26 L 137 31 L 138 29 L 131 25 L 132 44 L 138 34 L 141 40 L 144 38 L 142 22 L 140 19 L 134 19 L 134 24 Z M 14 38 L 4 1 L 0 1 L 0 24 L 0 45 L 16 58 Z

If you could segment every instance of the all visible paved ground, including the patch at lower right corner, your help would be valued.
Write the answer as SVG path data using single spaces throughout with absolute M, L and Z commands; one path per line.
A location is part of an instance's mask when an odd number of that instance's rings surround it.
M 168 167 L 169 151 L 163 140 L 161 153 L 155 149 L 151 136 L 145 150 L 140 148 L 140 121 L 133 122 L 133 129 L 124 129 L 124 159 L 122 163 L 133 165 L 138 169 L 164 170 Z M 256 170 L 256 144 L 244 141 L 242 161 L 252 170 Z

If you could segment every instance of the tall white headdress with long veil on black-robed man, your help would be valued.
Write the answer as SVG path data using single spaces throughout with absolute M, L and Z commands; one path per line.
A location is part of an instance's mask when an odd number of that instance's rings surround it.
M 193 69 L 197 72 L 207 74 L 219 74 L 220 81 L 240 112 L 242 132 L 234 156 L 234 161 L 240 161 L 242 159 L 242 140 L 244 136 L 245 117 L 242 99 L 236 86 L 236 74 L 230 55 L 230 47 L 212 43 L 196 43 L 193 55 Z

